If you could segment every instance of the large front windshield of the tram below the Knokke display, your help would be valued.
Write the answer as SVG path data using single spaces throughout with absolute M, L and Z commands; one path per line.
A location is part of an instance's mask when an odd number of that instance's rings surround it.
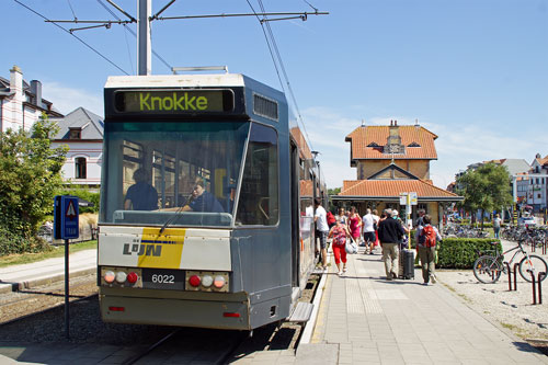
M 101 221 L 230 226 L 249 122 L 105 124 Z

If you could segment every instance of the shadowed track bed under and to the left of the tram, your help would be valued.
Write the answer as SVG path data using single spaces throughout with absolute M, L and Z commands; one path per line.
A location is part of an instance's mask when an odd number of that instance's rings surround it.
M 90 280 L 94 286 L 94 278 Z M 319 276 L 312 276 L 302 300 L 313 300 Z M 61 285 L 62 286 L 62 285 Z M 227 364 L 255 352 L 292 350 L 295 351 L 304 326 L 297 323 L 273 323 L 252 333 L 249 331 L 208 330 L 195 328 L 172 328 L 160 326 L 135 326 L 104 323 L 99 313 L 98 296 L 83 296 L 79 290 L 88 289 L 85 283 L 71 286 L 70 340 L 65 338 L 64 293 L 56 287 L 43 287 L 27 295 L 33 300 L 44 301 L 54 298 L 55 305 L 0 324 L 0 343 L 9 341 L 9 346 L 19 343 L 26 349 L 42 346 L 43 343 L 71 344 L 78 349 L 85 344 L 88 351 L 99 351 L 107 345 L 112 353 L 98 358 L 109 362 L 110 356 L 123 364 L 139 363 L 192 363 Z M 30 299 L 28 299 L 30 300 Z M 25 300 L 12 297 L 0 304 L 4 306 L 28 307 Z M 33 307 L 34 308 L 34 307 Z M 2 316 L 3 319 L 3 316 Z M 8 347 L 9 347 L 8 346 Z M 0 345 L 0 354 L 3 347 Z M 75 354 L 78 351 L 73 350 Z M 32 351 L 30 351 L 32 352 Z M 7 353 L 4 355 L 8 355 Z M 85 354 L 82 354 L 84 356 Z M 111 358 L 111 360 L 112 360 Z M 121 360 L 122 358 L 122 360 Z M 27 362 L 44 362 L 44 358 L 25 358 Z M 77 360 L 75 360 L 77 361 Z

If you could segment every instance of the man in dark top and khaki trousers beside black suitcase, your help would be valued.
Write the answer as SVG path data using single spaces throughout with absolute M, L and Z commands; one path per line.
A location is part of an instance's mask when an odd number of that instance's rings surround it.
M 383 261 L 385 262 L 386 280 L 391 281 L 398 277 L 398 244 L 403 237 L 404 230 L 401 224 L 390 218 L 391 212 L 384 212 L 386 219 L 378 224 L 378 238 L 383 247 Z

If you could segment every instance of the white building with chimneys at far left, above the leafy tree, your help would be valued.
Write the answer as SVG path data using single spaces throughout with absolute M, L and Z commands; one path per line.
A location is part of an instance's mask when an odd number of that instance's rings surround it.
M 28 84 L 18 66 L 10 70 L 10 80 L 0 77 L 0 132 L 28 130 L 43 112 L 49 117 L 62 117 L 52 102 L 42 99 L 39 81 L 32 80 Z

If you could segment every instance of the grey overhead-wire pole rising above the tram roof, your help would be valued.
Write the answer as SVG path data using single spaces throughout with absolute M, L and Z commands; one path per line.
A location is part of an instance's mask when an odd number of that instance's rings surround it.
M 152 0 L 137 0 L 137 75 L 147 76 L 152 72 L 150 46 L 150 15 Z

